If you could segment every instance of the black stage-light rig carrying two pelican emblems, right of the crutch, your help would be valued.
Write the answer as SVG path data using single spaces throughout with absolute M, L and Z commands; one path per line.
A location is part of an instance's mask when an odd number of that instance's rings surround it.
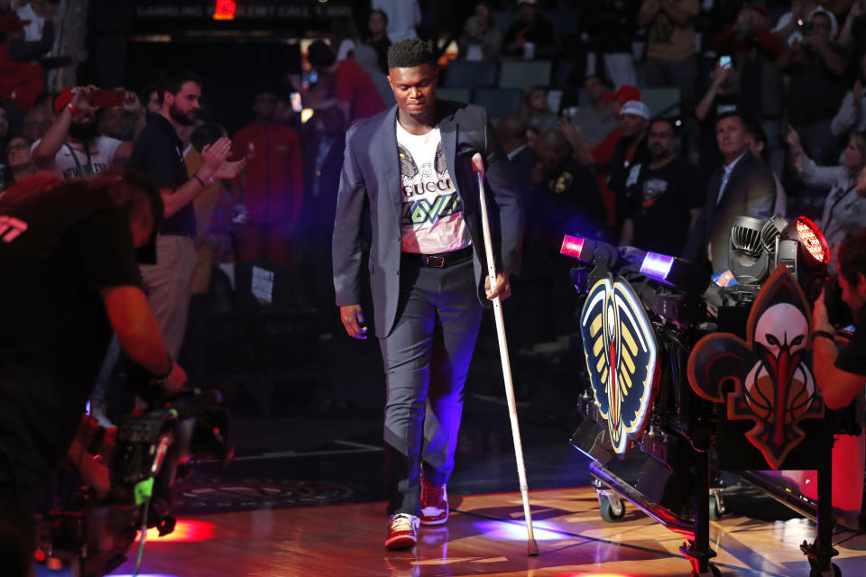
M 739 218 L 728 248 L 736 282 L 720 287 L 672 256 L 565 237 L 586 359 L 571 443 L 593 460 L 601 516 L 622 519 L 628 500 L 686 535 L 694 576 L 719 574 L 709 521 L 724 510 L 721 470 L 817 519 L 815 543 L 801 547 L 811 574 L 840 574 L 829 456 L 839 426 L 825 418 L 808 349 L 810 303 L 832 287 L 829 248 L 808 219 L 779 215 Z M 751 474 L 768 469 L 818 470 L 817 499 Z

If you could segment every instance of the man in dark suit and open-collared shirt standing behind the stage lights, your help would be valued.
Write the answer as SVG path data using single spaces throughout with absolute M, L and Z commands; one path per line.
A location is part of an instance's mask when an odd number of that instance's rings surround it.
M 728 266 L 733 220 L 737 216 L 764 220 L 773 215 L 776 181 L 769 167 L 749 151 L 740 114 L 720 115 L 715 133 L 724 164 L 710 178 L 704 211 L 689 234 L 683 256 L 696 263 L 708 259 L 716 282 L 726 286 L 733 278 Z

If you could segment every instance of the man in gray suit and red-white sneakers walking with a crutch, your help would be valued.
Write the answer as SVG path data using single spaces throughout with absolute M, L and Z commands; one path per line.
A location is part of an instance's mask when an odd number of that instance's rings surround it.
M 398 549 L 415 545 L 419 522 L 447 521 L 466 372 L 483 303 L 507 298 L 520 266 L 521 205 L 484 109 L 437 100 L 428 43 L 393 44 L 388 66 L 397 105 L 346 134 L 332 250 L 343 325 L 365 338 L 359 285 L 369 209 L 373 320 L 387 386 L 385 546 Z M 476 152 L 489 188 L 494 287 L 485 280 Z

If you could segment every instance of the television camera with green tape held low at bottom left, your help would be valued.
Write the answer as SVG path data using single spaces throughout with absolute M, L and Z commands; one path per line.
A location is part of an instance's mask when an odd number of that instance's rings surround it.
M 51 511 L 40 527 L 37 562 L 76 577 L 101 577 L 126 561 L 141 531 L 137 572 L 147 529 L 157 527 L 160 536 L 174 530 L 171 487 L 191 473 L 192 459 L 232 458 L 229 415 L 220 402 L 216 390 L 183 390 L 119 419 L 108 495 L 99 499 L 85 488 Z

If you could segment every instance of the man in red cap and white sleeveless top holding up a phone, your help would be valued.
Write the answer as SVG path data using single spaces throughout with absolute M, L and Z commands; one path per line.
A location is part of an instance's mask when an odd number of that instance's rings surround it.
M 78 180 L 124 164 L 129 158 L 132 142 L 97 135 L 97 106 L 91 102 L 96 92 L 93 86 L 67 88 L 54 101 L 54 123 L 45 136 L 33 142 L 32 158 L 39 169 Z M 143 108 L 138 96 L 123 90 L 119 97 L 124 112 L 135 114 L 141 125 Z

